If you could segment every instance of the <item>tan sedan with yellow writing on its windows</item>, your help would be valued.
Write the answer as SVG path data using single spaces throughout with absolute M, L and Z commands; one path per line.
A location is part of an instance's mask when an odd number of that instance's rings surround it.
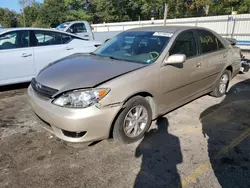
M 232 56 L 232 46 L 204 28 L 132 29 L 90 55 L 48 66 L 32 80 L 28 100 L 44 127 L 65 141 L 112 135 L 131 143 L 157 117 L 207 93 L 223 96 L 240 69 Z

